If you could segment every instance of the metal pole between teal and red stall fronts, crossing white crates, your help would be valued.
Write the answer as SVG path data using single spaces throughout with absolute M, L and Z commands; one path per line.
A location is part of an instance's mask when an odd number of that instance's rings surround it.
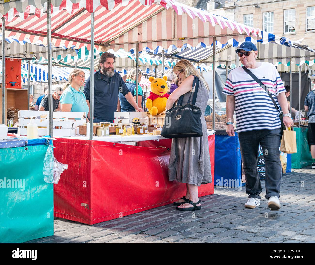
M 51 55 L 51 3 L 47 1 L 47 41 L 48 41 L 48 108 L 49 108 L 49 135 L 53 138 L 53 81 L 52 77 L 52 55 Z

